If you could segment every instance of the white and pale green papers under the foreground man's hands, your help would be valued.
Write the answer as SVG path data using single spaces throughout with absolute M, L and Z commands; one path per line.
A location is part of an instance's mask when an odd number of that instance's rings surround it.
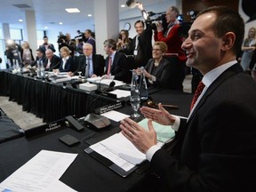
M 148 129 L 148 119 L 143 119 L 139 124 Z M 153 125 L 157 134 L 157 145 L 161 147 L 167 140 L 172 140 L 174 131 L 170 125 L 164 126 L 156 122 L 153 122 Z M 132 142 L 127 140 L 121 132 L 108 137 L 106 140 L 101 140 L 90 148 L 126 172 L 146 160 L 146 155 L 135 148 Z

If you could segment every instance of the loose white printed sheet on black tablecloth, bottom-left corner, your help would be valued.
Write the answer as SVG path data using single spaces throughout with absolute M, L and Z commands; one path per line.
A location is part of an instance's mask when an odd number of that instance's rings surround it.
M 0 191 L 4 189 L 9 189 L 12 192 L 49 191 L 46 189 L 52 188 L 56 182 L 59 183 L 61 175 L 68 169 L 76 156 L 77 154 L 41 150 L 0 183 Z M 61 186 L 65 185 L 61 184 Z M 68 186 L 65 188 L 67 192 L 74 191 Z

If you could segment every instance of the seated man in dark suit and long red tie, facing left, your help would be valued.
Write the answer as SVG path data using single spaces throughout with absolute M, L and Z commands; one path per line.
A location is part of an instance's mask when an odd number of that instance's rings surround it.
M 123 52 L 116 52 L 116 41 L 107 39 L 104 42 L 104 51 L 108 55 L 105 61 L 105 75 L 115 76 L 114 79 L 131 83 L 132 72 L 130 72 L 129 63 Z

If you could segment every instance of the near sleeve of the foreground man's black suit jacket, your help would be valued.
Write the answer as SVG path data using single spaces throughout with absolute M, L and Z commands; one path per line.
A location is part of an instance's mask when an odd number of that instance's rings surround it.
M 194 120 L 188 123 L 194 127 L 186 135 L 186 142 L 191 149 L 200 149 L 199 156 L 187 151 L 187 154 L 181 154 L 182 159 L 187 159 L 184 162 L 164 149 L 159 149 L 153 156 L 152 167 L 164 183 L 161 191 L 238 192 L 255 189 L 255 110 L 244 108 L 243 101 L 239 104 L 232 100 L 216 106 L 209 104 L 212 109 L 197 112 L 200 114 L 197 116 L 196 113 Z M 195 137 L 198 143 L 193 140 Z M 186 150 L 184 146 L 180 148 Z M 191 164 L 197 164 L 196 168 Z

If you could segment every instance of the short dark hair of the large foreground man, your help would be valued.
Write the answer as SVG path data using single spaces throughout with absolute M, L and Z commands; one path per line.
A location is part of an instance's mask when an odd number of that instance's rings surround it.
M 199 12 L 197 17 L 207 12 L 216 14 L 216 20 L 212 24 L 215 36 L 220 38 L 228 32 L 233 32 L 236 35 L 236 40 L 232 51 L 235 54 L 240 52 L 244 41 L 244 20 L 241 15 L 228 6 L 212 6 Z

